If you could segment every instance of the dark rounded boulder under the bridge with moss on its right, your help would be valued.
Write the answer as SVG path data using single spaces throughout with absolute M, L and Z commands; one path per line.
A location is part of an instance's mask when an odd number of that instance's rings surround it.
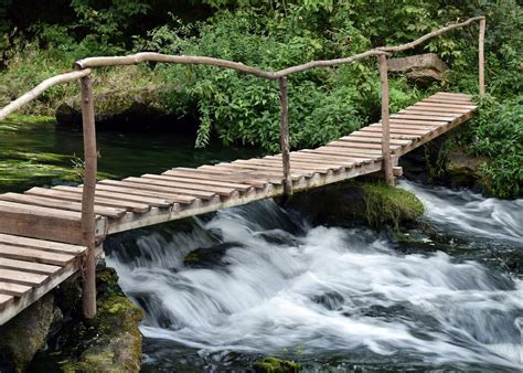
M 349 181 L 297 193 L 287 204 L 317 224 L 363 222 L 374 227 L 413 222 L 424 207 L 410 192 L 377 182 Z

